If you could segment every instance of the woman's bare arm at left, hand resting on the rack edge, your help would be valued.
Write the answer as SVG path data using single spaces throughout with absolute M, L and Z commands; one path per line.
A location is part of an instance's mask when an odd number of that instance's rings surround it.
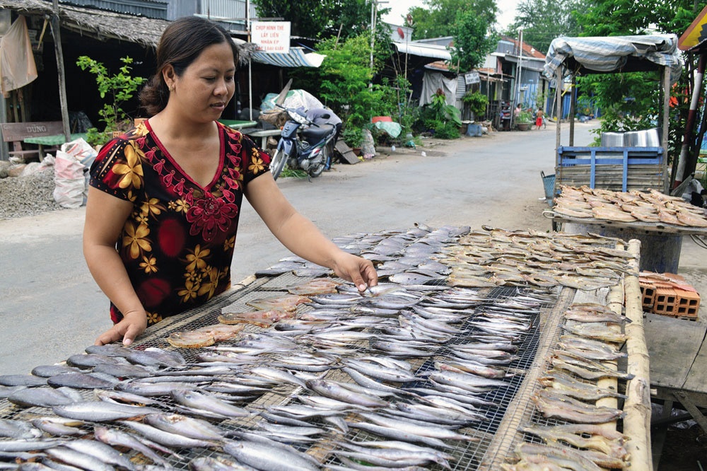
M 115 242 L 133 205 L 123 199 L 88 188 L 86 223 L 83 226 L 83 256 L 93 279 L 100 289 L 123 314 L 123 319 L 103 332 L 96 345 L 105 345 L 122 339 L 132 344 L 135 337 L 147 327 L 147 313 L 130 283 L 122 260 L 115 250 Z

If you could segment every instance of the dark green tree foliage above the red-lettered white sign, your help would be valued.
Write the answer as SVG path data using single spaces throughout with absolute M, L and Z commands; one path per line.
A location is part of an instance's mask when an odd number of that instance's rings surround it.
M 293 36 L 326 38 L 340 33 L 345 38 L 370 30 L 370 0 L 254 1 L 258 16 L 289 21 Z

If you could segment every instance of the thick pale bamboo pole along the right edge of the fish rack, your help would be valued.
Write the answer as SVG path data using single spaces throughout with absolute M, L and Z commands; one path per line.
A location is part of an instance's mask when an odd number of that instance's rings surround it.
M 638 284 L 638 262 L 641 242 L 629 241 L 629 252 L 636 256 L 631 266 L 636 275 L 626 275 L 626 317 L 631 320 L 626 325 L 626 349 L 629 352 L 627 372 L 633 375 L 626 385 L 624 403 L 624 434 L 631 437 L 626 442 L 626 450 L 631 455 L 631 469 L 653 470 L 650 451 L 650 374 L 648 371 L 648 348 L 643 332 L 643 308 L 641 306 L 641 286 Z

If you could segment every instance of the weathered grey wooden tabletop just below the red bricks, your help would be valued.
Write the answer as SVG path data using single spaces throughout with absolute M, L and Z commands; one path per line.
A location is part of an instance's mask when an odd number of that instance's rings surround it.
M 654 385 L 682 389 L 690 374 L 699 368 L 691 365 L 705 337 L 705 327 L 696 322 L 646 313 L 644 330 L 650 354 L 650 378 Z M 701 367 L 707 362 L 703 360 Z M 705 390 L 705 373 L 699 375 L 699 389 Z

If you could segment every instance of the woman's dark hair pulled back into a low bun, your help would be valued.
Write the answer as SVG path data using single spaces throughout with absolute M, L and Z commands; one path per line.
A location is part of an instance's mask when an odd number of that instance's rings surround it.
M 238 64 L 238 46 L 221 26 L 198 16 L 185 16 L 170 23 L 157 46 L 156 74 L 139 94 L 140 105 L 148 115 L 153 116 L 164 110 L 170 98 L 167 83 L 162 76 L 165 66 L 172 64 L 175 74 L 182 76 L 189 64 L 192 64 L 206 47 L 222 42 L 230 45 L 233 50 L 233 63 Z

